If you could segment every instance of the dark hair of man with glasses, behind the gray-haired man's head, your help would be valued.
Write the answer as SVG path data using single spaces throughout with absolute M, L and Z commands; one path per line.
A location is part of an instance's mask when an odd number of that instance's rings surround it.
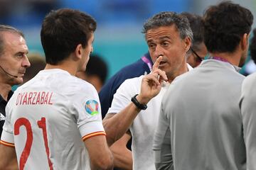
M 193 41 L 192 41 L 192 48 L 198 50 L 198 45 L 203 42 L 203 17 L 198 16 L 196 14 L 183 12 L 181 15 L 186 16 L 188 18 L 189 26 L 191 27 L 193 33 Z

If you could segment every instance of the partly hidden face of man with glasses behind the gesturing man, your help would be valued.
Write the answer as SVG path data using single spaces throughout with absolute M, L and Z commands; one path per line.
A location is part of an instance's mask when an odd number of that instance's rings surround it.
M 207 48 L 206 45 L 202 42 L 201 44 L 197 45 L 196 48 L 192 47 L 191 52 L 189 52 L 187 57 L 187 63 L 191 65 L 191 67 L 198 67 L 198 65 L 202 62 L 204 57 L 207 55 Z

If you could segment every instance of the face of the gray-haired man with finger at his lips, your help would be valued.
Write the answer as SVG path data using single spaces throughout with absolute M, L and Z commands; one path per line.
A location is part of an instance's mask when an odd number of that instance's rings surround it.
M 176 30 L 176 26 L 161 26 L 146 32 L 146 42 L 149 46 L 149 53 L 153 60 L 162 55 L 159 69 L 166 72 L 168 79 L 174 79 L 180 74 L 181 69 L 186 67 L 186 52 L 191 40 L 182 40 Z

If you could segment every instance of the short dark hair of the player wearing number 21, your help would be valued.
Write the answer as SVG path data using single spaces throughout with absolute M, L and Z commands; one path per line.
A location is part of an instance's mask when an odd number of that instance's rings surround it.
M 87 13 L 69 8 L 50 11 L 41 28 L 46 63 L 55 65 L 65 60 L 79 44 L 87 47 L 96 27 L 95 19 Z

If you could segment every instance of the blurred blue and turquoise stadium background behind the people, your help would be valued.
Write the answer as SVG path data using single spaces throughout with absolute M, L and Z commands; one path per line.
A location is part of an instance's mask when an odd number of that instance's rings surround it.
M 0 0 L 0 23 L 25 33 L 30 52 L 43 55 L 40 41 L 41 22 L 52 9 L 75 8 L 97 21 L 94 53 L 109 68 L 107 78 L 147 51 L 143 23 L 159 11 L 188 11 L 199 15 L 217 0 Z M 256 18 L 256 1 L 234 1 L 249 8 Z M 255 23 L 253 25 L 255 28 Z

